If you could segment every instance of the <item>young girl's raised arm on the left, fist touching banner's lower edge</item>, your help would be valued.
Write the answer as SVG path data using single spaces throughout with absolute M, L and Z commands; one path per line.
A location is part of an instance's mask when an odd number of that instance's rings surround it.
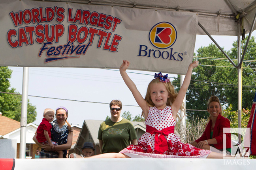
M 141 96 L 140 92 L 138 91 L 136 85 L 134 82 L 130 79 L 130 77 L 127 75 L 126 70 L 129 67 L 130 62 L 127 60 L 123 60 L 122 65 L 120 66 L 120 74 L 122 78 L 124 79 L 124 83 L 127 85 L 127 87 L 132 92 L 132 95 L 134 96 L 136 102 L 141 107 L 142 111 L 145 114 L 145 119 L 147 118 L 148 112 L 149 112 L 149 106 L 147 105 L 147 102 L 144 100 L 144 98 Z

